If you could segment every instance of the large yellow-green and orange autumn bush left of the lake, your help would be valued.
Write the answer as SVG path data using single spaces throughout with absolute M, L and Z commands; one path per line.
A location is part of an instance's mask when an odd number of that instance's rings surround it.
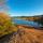
M 16 31 L 16 27 L 12 24 L 11 17 L 5 13 L 0 13 L 0 34 L 6 34 Z

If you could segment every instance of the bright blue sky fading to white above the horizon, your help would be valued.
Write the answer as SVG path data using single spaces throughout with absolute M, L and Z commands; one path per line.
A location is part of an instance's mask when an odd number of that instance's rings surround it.
M 9 0 L 11 16 L 33 16 L 43 14 L 43 0 Z

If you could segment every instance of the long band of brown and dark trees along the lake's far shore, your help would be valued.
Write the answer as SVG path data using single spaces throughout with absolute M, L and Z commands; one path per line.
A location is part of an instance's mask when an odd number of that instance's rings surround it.
M 14 16 L 13 18 L 33 20 L 33 22 L 38 22 L 38 24 L 42 24 L 43 25 L 43 15 L 37 15 L 37 16 Z

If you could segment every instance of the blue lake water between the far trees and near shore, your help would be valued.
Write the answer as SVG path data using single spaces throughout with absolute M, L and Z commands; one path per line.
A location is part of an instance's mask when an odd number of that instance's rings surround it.
M 30 22 L 30 20 L 24 20 L 24 19 L 13 19 L 13 22 L 17 25 L 26 25 L 26 26 L 31 26 L 31 27 L 41 27 L 41 24 L 38 24 L 35 22 Z

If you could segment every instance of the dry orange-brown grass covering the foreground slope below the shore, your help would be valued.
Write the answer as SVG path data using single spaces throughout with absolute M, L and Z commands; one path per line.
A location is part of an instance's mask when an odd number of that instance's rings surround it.
M 43 43 L 43 30 L 20 29 L 9 43 Z

